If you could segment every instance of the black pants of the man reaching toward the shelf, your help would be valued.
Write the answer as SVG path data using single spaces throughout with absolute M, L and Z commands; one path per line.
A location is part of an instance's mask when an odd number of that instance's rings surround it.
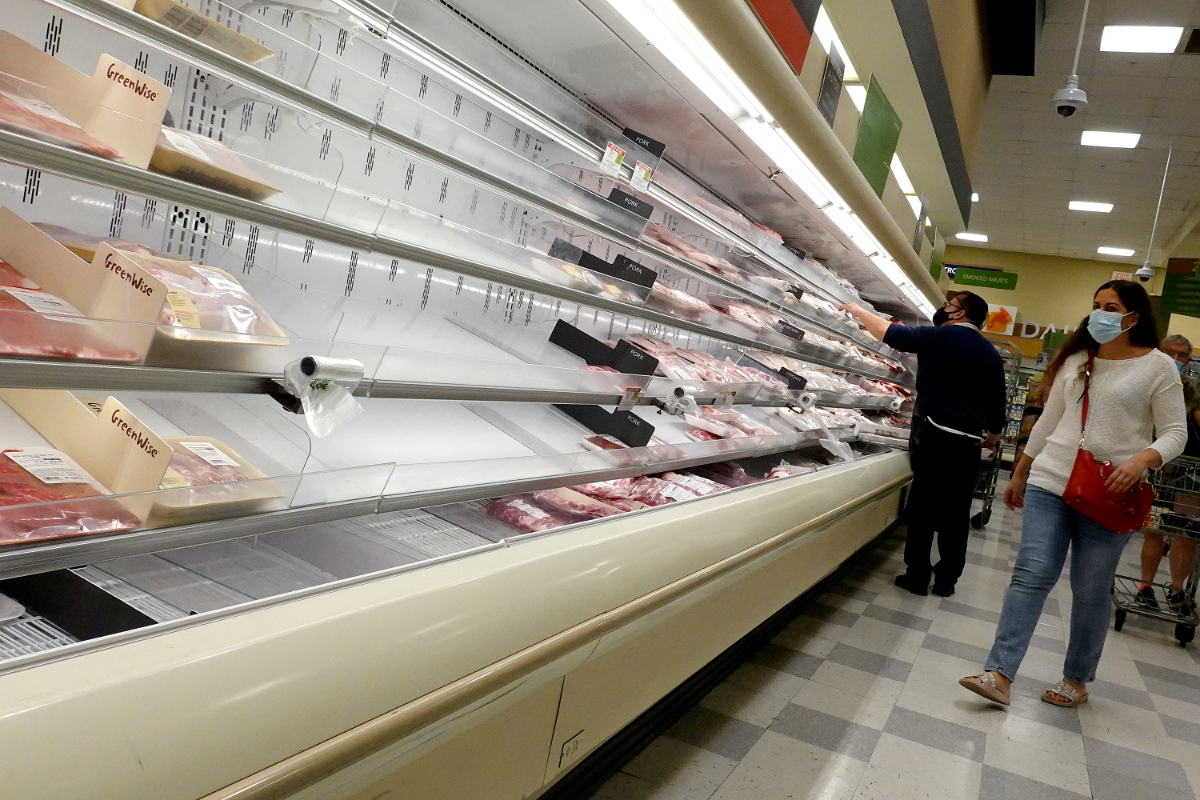
M 979 477 L 979 444 L 947 433 L 926 421 L 913 421 L 910 440 L 912 486 L 905 517 L 908 539 L 904 563 L 913 583 L 928 585 L 934 573 L 938 587 L 953 587 L 962 575 L 971 525 L 971 495 Z M 937 534 L 941 560 L 930 567 L 930 549 Z

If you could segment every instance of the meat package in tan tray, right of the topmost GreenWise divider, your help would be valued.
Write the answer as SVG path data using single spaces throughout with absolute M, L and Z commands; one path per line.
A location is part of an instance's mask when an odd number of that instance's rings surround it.
M 265 200 L 282 191 L 266 184 L 239 154 L 218 142 L 168 127 L 158 131 L 150 168 L 248 200 Z

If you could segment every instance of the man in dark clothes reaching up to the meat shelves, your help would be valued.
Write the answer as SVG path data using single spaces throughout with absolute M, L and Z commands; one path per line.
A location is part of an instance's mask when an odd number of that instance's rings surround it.
M 949 597 L 966 565 L 980 446 L 995 449 L 1006 423 L 1004 367 L 979 332 L 988 320 L 988 301 L 960 293 L 934 314 L 932 327 L 892 324 L 853 303 L 845 309 L 884 344 L 917 354 L 912 486 L 905 511 L 907 572 L 895 582 L 928 595 L 932 575 L 934 594 Z M 941 560 L 931 567 L 935 531 Z

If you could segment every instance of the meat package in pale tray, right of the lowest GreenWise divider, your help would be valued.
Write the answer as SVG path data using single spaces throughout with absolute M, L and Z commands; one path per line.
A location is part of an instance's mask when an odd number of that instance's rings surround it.
M 168 437 L 174 451 L 146 524 L 178 525 L 265 511 L 286 495 L 229 445 L 209 437 Z

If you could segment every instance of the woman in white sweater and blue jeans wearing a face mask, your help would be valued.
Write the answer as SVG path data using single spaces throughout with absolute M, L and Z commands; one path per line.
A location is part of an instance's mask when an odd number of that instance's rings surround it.
M 1066 708 L 1085 703 L 1086 684 L 1096 679 L 1104 650 L 1109 593 L 1129 536 L 1104 528 L 1062 499 L 1082 435 L 1088 359 L 1094 361 L 1087 449 L 1097 461 L 1117 464 L 1105 483 L 1109 491 L 1133 488 L 1147 469 L 1175 458 L 1187 443 L 1180 373 L 1170 356 L 1158 350 L 1150 297 L 1132 281 L 1110 281 L 1097 290 L 1092 313 L 1046 369 L 1049 401 L 1004 491 L 1009 509 L 1025 509 L 1021 549 L 986 672 L 959 681 L 1004 705 L 1068 548 L 1070 640 L 1063 679 L 1042 699 Z

